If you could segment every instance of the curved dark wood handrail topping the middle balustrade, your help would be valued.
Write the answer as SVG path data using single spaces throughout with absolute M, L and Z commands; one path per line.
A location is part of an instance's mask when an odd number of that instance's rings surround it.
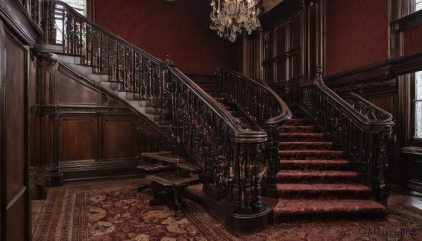
M 243 79 L 245 82 L 248 82 L 250 84 L 257 86 L 259 89 L 266 91 L 267 93 L 269 93 L 269 95 L 272 98 L 274 98 L 276 104 L 278 104 L 277 112 L 279 112 L 279 115 L 265 119 L 264 123 L 262 123 L 262 124 L 265 124 L 265 125 L 280 125 L 280 124 L 282 124 L 283 122 L 286 122 L 288 119 L 290 119 L 292 117 L 292 112 L 290 111 L 290 108 L 288 108 L 288 105 L 280 98 L 279 95 L 277 95 L 277 93 L 275 93 L 266 84 L 262 84 L 261 82 L 257 82 L 254 79 L 250 79 L 248 77 L 245 77 L 242 74 L 240 74 L 236 71 L 233 71 L 233 70 L 227 70 L 227 69 L 223 69 L 223 68 L 217 70 L 217 74 L 219 75 L 219 77 L 222 77 L 222 74 L 224 72 L 231 74 L 238 79 Z M 227 80 L 227 79 L 225 79 L 225 80 Z M 222 91 L 222 90 L 219 90 L 219 91 Z M 234 93 L 229 93 L 229 96 L 231 96 L 231 98 L 236 98 L 236 96 L 234 96 Z M 256 117 L 253 117 L 253 118 L 255 119 Z M 264 126 L 260 126 L 260 127 L 263 128 Z

